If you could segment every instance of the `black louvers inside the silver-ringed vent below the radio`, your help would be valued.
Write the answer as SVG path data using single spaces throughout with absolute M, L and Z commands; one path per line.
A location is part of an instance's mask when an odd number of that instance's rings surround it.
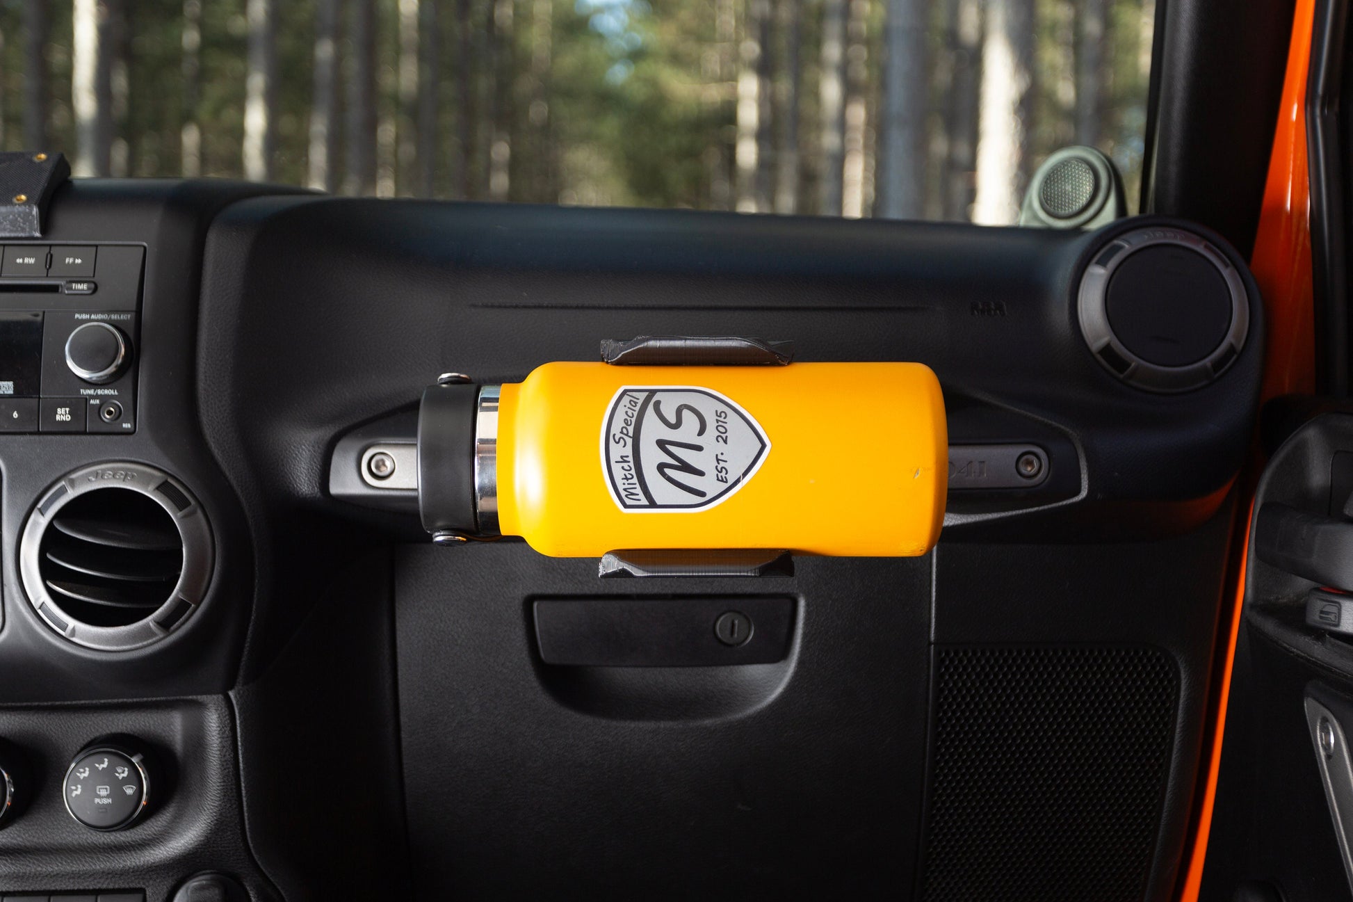
M 169 513 L 138 492 L 101 489 L 55 512 L 38 563 L 51 597 L 91 626 L 127 626 L 169 600 L 183 543 Z

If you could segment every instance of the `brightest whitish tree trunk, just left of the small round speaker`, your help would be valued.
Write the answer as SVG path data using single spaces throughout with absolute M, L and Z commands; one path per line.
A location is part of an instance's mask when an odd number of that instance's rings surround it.
M 973 221 L 1009 225 L 1019 218 L 1028 165 L 1034 58 L 1032 0 L 988 0 Z

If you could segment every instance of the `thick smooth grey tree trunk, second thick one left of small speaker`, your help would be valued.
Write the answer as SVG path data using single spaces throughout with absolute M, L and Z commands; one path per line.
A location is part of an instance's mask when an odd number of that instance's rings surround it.
M 882 154 L 878 214 L 919 219 L 925 191 L 928 0 L 888 0 L 884 22 Z

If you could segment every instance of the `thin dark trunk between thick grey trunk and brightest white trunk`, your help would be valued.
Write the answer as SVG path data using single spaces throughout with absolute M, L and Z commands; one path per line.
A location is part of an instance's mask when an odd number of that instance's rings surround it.
M 982 53 L 981 0 L 953 0 L 948 103 L 944 108 L 946 165 L 943 215 L 966 222 L 973 217 L 977 187 L 977 93 Z

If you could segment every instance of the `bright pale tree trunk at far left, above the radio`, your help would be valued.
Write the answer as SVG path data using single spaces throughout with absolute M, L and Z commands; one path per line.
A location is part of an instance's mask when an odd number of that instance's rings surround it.
M 108 73 L 108 4 L 74 0 L 70 100 L 76 118 L 77 176 L 108 175 L 112 98 Z

